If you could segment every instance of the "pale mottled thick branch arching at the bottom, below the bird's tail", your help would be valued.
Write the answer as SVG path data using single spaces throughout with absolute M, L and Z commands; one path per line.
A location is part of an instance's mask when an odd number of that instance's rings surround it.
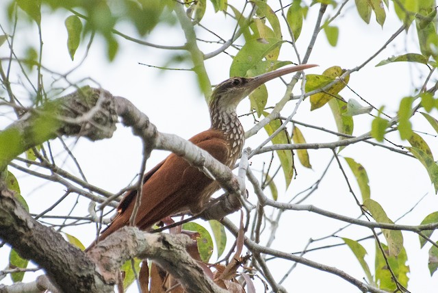
M 170 272 L 186 292 L 226 292 L 185 251 L 191 242 L 188 235 L 150 234 L 136 227 L 123 227 L 93 246 L 88 255 L 99 264 L 99 272 L 110 283 L 116 281 L 115 272 L 127 259 L 140 257 L 152 259 Z

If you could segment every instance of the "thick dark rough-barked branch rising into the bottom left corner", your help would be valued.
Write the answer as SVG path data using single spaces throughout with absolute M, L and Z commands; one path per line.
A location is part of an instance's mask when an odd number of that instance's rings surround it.
M 94 263 L 60 233 L 34 220 L 0 182 L 0 238 L 47 273 L 61 292 L 112 292 Z

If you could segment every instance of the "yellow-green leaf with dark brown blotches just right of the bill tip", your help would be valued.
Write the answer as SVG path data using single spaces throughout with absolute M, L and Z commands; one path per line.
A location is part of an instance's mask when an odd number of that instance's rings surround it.
M 333 99 L 333 97 L 336 97 L 336 95 L 345 88 L 346 84 L 348 84 L 348 80 L 350 79 L 350 75 L 347 75 L 344 80 L 339 79 L 339 77 L 345 73 L 345 70 L 340 68 L 339 66 L 332 66 L 330 68 L 327 68 L 324 73 L 322 73 L 323 76 L 329 77 L 332 81 L 335 81 L 335 83 L 330 87 L 326 88 L 324 92 L 318 92 L 318 94 L 312 94 L 310 96 L 310 103 L 311 103 L 311 111 L 318 109 L 325 105 L 328 101 Z M 310 80 L 309 80 L 310 78 Z M 309 92 L 310 90 L 313 90 L 312 87 L 315 84 L 315 81 L 312 79 L 315 79 L 315 75 L 306 75 L 306 92 Z M 323 88 L 327 84 L 325 84 L 325 81 L 328 81 L 327 78 L 321 78 L 318 77 L 321 82 L 320 88 Z M 325 81 L 324 81 L 325 79 Z M 307 84 L 311 82 L 309 86 Z M 324 85 L 323 85 L 324 84 Z

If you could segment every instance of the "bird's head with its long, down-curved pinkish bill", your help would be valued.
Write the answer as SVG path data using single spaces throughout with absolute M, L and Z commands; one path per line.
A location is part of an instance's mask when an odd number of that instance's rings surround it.
M 209 107 L 210 109 L 212 107 L 218 107 L 220 109 L 231 108 L 235 110 L 240 101 L 253 92 L 253 90 L 266 83 L 266 81 L 314 66 L 317 65 L 301 64 L 287 68 L 280 68 L 276 71 L 257 75 L 256 77 L 231 77 L 226 81 L 222 81 L 216 86 L 216 88 L 214 88 L 209 101 Z

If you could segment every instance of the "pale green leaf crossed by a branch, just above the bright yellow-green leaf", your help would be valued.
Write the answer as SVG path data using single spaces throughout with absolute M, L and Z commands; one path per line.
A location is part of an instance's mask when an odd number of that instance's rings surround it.
M 394 222 L 388 218 L 385 211 L 383 210 L 383 208 L 378 202 L 373 201 L 372 199 L 365 199 L 365 201 L 363 201 L 363 206 L 366 209 L 368 209 L 368 212 L 370 212 L 372 218 L 374 218 L 376 222 L 394 224 Z M 402 232 L 399 230 L 389 230 L 389 229 L 381 229 L 381 230 L 389 246 L 388 255 L 389 256 L 399 255 L 403 249 Z

